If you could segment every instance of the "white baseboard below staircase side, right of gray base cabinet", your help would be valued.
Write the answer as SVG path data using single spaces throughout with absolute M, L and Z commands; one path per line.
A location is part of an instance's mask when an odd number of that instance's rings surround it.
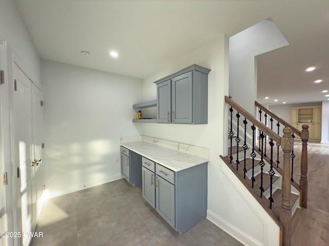
M 247 246 L 263 246 L 263 244 L 254 238 L 250 237 L 248 234 L 239 230 L 233 226 L 233 224 L 229 223 L 225 219 L 221 218 L 220 216 L 216 215 L 209 209 L 207 210 L 207 219 L 213 222 L 217 227 L 221 228 L 227 234 L 234 237 L 237 241 L 241 242 Z

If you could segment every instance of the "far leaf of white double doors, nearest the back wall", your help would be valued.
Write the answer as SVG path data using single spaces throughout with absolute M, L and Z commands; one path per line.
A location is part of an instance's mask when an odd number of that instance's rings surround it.
M 35 179 L 35 199 L 38 202 L 35 206 L 35 215 L 40 213 L 42 204 L 39 204 L 41 201 L 41 195 L 44 186 L 44 165 L 43 165 L 43 152 L 42 152 L 42 92 L 34 84 L 32 84 L 32 142 L 33 142 L 33 159 L 38 160 L 34 166 L 34 179 Z M 33 201 L 34 202 L 34 201 Z M 36 216 L 35 216 L 36 217 Z

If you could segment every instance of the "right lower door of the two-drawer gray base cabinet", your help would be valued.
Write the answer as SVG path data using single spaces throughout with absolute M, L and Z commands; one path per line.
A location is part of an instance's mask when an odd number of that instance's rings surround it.
M 156 176 L 156 211 L 175 229 L 175 186 Z

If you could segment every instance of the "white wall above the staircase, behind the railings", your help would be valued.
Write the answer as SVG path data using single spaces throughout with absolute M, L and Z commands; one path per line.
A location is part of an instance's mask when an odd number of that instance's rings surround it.
M 257 99 L 257 58 L 255 56 L 288 45 L 271 20 L 263 20 L 230 37 L 229 94 L 254 115 Z

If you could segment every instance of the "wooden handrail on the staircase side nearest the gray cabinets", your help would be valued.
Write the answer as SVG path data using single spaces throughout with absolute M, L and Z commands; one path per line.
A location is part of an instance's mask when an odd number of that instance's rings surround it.
M 246 117 L 249 121 L 252 122 L 253 125 L 258 127 L 259 129 L 262 129 L 262 131 L 269 136 L 271 139 L 275 140 L 279 145 L 281 145 L 281 137 L 273 132 L 271 129 L 269 129 L 265 124 L 263 124 L 261 121 L 256 119 L 253 115 L 251 115 L 248 111 L 243 109 L 240 105 L 236 104 L 235 101 L 230 99 L 228 96 L 225 96 L 225 102 L 232 106 L 236 111 L 241 113 L 243 116 Z

